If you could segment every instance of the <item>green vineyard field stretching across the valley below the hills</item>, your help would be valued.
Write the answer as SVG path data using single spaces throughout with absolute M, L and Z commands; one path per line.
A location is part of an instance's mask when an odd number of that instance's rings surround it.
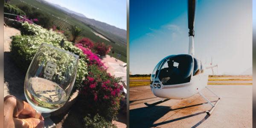
M 72 1 L 70 1 L 72 2 Z M 112 55 L 110 52 L 109 54 L 113 57 L 116 57 L 118 53 L 121 54 L 121 57 L 119 58 L 121 61 L 126 62 L 126 39 L 120 38 L 116 35 L 113 35 L 109 32 L 105 32 L 101 29 L 98 29 L 94 26 L 90 26 L 80 20 L 75 19 L 74 17 L 71 17 L 67 15 L 65 12 L 55 9 L 51 6 L 48 6 L 44 3 L 38 2 L 36 0 L 11 0 L 10 4 L 21 4 L 25 3 L 29 6 L 35 7 L 43 11 L 44 13 L 49 14 L 52 17 L 52 20 L 54 21 L 55 26 L 60 26 L 61 29 L 67 29 L 71 25 L 77 26 L 83 30 L 83 33 L 81 37 L 90 38 L 93 42 L 104 42 L 105 44 L 111 45 L 113 47 L 113 50 L 115 51 L 115 54 Z M 92 31 L 97 32 L 101 35 L 103 35 L 105 38 L 109 39 L 110 41 L 107 41 L 103 38 L 100 38 L 99 36 L 95 35 Z

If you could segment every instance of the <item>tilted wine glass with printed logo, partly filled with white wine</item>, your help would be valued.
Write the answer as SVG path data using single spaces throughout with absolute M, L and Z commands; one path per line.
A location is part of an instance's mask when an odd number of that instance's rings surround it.
M 26 73 L 26 100 L 38 113 L 61 108 L 72 91 L 79 56 L 42 43 Z

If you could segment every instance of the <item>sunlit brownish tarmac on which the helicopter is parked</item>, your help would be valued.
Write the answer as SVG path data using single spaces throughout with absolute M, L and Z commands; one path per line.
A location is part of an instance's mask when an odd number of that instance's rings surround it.
M 230 83 L 230 81 L 221 81 Z M 240 81 L 241 82 L 241 81 Z M 247 83 L 244 81 L 242 83 Z M 154 96 L 149 85 L 130 87 L 130 128 L 251 128 L 252 85 L 208 85 L 221 96 L 212 107 L 198 94 L 188 99 L 171 99 L 148 107 L 161 98 Z M 218 99 L 207 89 L 201 91 L 213 104 Z

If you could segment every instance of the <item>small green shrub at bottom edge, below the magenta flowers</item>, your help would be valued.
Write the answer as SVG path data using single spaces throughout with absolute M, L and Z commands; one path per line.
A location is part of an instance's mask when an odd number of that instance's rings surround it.
M 115 125 L 106 121 L 102 116 L 99 116 L 99 114 L 93 117 L 88 114 L 84 117 L 84 123 L 84 128 L 116 128 Z

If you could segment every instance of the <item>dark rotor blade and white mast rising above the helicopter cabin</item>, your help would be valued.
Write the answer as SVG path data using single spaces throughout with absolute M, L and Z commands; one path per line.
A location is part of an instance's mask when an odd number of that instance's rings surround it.
M 195 20 L 195 0 L 188 0 L 188 25 L 189 25 L 189 55 L 194 56 L 194 20 Z

